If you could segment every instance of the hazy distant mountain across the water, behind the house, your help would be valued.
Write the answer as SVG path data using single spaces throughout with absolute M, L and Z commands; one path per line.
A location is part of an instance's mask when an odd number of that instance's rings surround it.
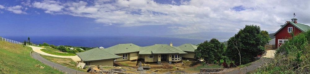
M 220 42 L 227 41 L 230 37 L 234 36 L 236 33 L 232 32 L 197 32 L 190 34 L 180 34 L 180 35 L 162 35 L 160 37 L 170 37 L 170 38 L 188 38 L 188 39 L 218 39 Z

